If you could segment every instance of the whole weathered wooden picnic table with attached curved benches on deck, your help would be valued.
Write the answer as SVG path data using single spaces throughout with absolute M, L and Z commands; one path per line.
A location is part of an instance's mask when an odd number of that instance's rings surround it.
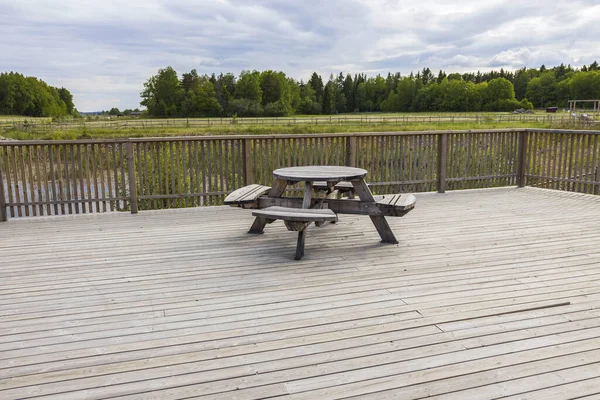
M 385 216 L 401 217 L 412 210 L 412 194 L 373 196 L 364 178 L 367 171 L 353 167 L 307 166 L 280 168 L 273 171 L 273 186 L 248 185 L 232 192 L 225 204 L 256 209 L 250 233 L 262 233 L 267 224 L 283 220 L 288 230 L 298 232 L 297 260 L 304 255 L 306 228 L 336 222 L 337 214 L 368 215 L 382 242 L 398 243 Z M 288 185 L 304 182 L 302 198 L 282 197 Z M 313 197 L 314 190 L 325 190 L 324 198 Z M 347 193 L 348 198 L 341 198 Z M 354 195 L 358 196 L 358 199 Z

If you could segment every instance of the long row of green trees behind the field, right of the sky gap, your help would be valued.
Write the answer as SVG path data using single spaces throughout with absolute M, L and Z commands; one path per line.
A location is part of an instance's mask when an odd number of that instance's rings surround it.
M 330 75 L 307 82 L 281 71 L 242 71 L 181 77 L 172 67 L 144 83 L 140 104 L 155 117 L 284 116 L 348 112 L 512 111 L 566 107 L 569 99 L 600 98 L 597 62 L 581 68 L 522 68 L 517 71 L 451 73 L 429 68 L 408 76 Z

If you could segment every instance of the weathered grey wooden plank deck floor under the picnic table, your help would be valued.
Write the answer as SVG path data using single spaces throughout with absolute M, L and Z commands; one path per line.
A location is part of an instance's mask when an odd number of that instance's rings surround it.
M 419 194 L 250 235 L 227 207 L 0 224 L 0 398 L 600 399 L 600 197 Z

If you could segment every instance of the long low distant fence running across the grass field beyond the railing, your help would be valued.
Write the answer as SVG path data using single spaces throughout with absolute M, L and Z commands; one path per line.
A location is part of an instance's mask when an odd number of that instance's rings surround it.
M 0 130 L 23 132 L 52 132 L 69 129 L 146 129 L 146 128 L 206 128 L 211 126 L 296 126 L 296 125 L 410 125 L 418 123 L 509 123 L 542 122 L 589 124 L 593 121 L 573 118 L 570 115 L 556 114 L 473 114 L 473 115 L 362 115 L 327 117 L 276 117 L 276 118 L 173 118 L 173 119 L 111 119 L 98 121 L 70 122 L 23 122 L 22 120 L 0 120 Z

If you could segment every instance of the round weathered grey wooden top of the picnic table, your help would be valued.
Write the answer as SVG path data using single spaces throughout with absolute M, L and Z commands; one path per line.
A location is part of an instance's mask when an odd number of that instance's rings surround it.
M 362 168 L 311 165 L 306 167 L 279 168 L 273 171 L 275 178 L 288 181 L 352 181 L 362 179 L 367 171 Z

